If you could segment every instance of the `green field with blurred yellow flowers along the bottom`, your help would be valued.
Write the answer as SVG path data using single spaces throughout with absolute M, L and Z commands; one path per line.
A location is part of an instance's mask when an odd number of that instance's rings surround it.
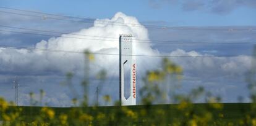
M 158 104 L 83 108 L 9 106 L 3 125 L 255 125 L 250 103 Z M 18 113 L 18 112 L 17 112 Z M 12 116 L 10 116 L 11 118 Z M 6 120 L 6 119 L 1 119 Z M 0 124 L 1 125 L 1 124 Z

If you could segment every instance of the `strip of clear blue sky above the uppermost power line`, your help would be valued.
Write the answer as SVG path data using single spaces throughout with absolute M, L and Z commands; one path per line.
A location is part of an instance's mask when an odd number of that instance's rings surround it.
M 248 1 L 248 4 L 251 4 L 251 6 L 246 3 L 245 5 L 241 3 L 239 3 L 241 4 L 240 6 L 236 5 L 236 0 L 231 0 L 230 4 L 216 1 L 220 2 L 220 4 L 224 4 L 224 6 L 219 5 L 222 7 L 220 12 L 216 12 L 214 8 L 212 10 L 204 9 L 205 6 L 198 7 L 197 9 L 193 5 L 189 7 L 194 7 L 195 9 L 186 10 L 184 9 L 186 1 L 179 0 L 132 0 L 129 2 L 117 0 L 4 0 L 1 1 L 1 6 L 89 18 L 109 18 L 116 12 L 124 12 L 127 15 L 138 18 L 140 22 L 162 21 L 166 22 L 164 25 L 174 26 L 256 25 L 255 2 L 250 2 L 250 0 L 246 1 Z M 210 1 L 207 2 L 210 3 Z M 211 8 L 211 6 L 207 7 Z M 216 5 L 215 8 L 217 7 L 218 5 Z

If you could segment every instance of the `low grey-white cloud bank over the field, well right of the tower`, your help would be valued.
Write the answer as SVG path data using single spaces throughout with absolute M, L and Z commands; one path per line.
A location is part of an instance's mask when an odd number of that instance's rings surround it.
M 218 57 L 207 53 L 198 53 L 195 51 L 186 52 L 181 49 L 174 50 L 171 56 L 190 56 L 171 58 L 178 65 L 181 65 L 185 71 L 195 71 L 195 73 L 205 73 L 203 76 L 223 76 L 224 74 L 243 75 L 250 69 L 251 58 L 247 55 L 237 57 Z M 197 57 L 200 56 L 200 57 Z M 210 56 L 210 57 L 203 57 Z M 192 72 L 191 72 L 192 73 Z

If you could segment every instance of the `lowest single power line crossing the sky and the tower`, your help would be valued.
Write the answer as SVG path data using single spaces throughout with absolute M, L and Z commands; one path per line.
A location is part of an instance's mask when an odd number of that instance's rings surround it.
M 59 53 L 84 53 L 80 51 L 70 51 L 70 50 L 54 50 L 54 49 L 40 49 L 40 48 L 33 48 L 33 47 L 19 47 L 19 46 L 12 46 L 12 45 L 0 45 L 0 47 L 6 49 L 27 49 L 27 50 L 35 50 L 35 51 L 43 51 L 43 52 L 59 52 Z M 93 55 L 114 55 L 119 56 L 118 53 L 96 53 L 91 52 Z M 221 56 L 214 56 L 214 55 L 130 55 L 130 54 L 122 54 L 124 56 L 134 56 L 134 57 L 173 57 L 173 58 L 214 58 L 214 57 L 237 57 L 239 55 L 221 55 Z

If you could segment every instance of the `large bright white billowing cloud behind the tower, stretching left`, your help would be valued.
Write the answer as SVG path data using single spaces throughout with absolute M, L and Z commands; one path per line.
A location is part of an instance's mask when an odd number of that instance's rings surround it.
M 99 24 L 101 21 L 109 24 Z M 111 19 L 95 20 L 95 25 L 82 29 L 75 33 L 62 34 L 62 37 L 51 37 L 48 41 L 41 41 L 35 45 L 38 49 L 67 50 L 83 52 L 89 49 L 92 52 L 118 53 L 119 34 L 133 34 L 136 39 L 148 40 L 148 31 L 143 26 L 134 27 L 130 25 L 118 25 L 119 23 L 139 23 L 135 17 L 129 17 L 121 12 L 117 12 Z M 117 25 L 115 25 L 117 24 Z M 103 41 L 92 40 L 95 37 L 86 37 L 89 39 L 69 38 L 71 34 L 82 34 L 88 36 L 115 36 L 117 39 L 109 41 L 103 38 Z M 77 37 L 77 36 L 72 36 Z M 80 36 L 79 36 L 80 37 Z M 101 38 L 102 39 L 102 38 Z M 153 54 L 149 44 L 135 43 L 136 54 Z M 113 66 L 118 57 L 116 56 L 98 56 L 96 55 L 96 64 L 104 68 Z M 83 55 L 75 53 L 56 53 L 56 52 L 38 52 L 34 50 L 1 50 L 1 65 L 7 65 L 2 71 L 15 71 L 15 69 L 25 68 L 28 71 L 54 70 L 66 73 L 67 71 L 79 72 L 83 67 Z M 8 68 L 11 67 L 12 69 Z M 24 70 L 24 69 L 23 69 Z

